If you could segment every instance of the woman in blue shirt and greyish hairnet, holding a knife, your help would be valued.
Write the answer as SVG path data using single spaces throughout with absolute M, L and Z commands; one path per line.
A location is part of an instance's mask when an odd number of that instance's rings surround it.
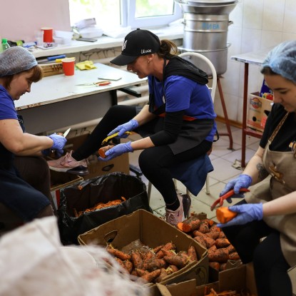
M 62 153 L 66 139 L 26 133 L 14 106 L 41 78 L 42 69 L 23 47 L 0 53 L 0 221 L 4 224 L 53 215 L 49 168 L 39 156 L 50 149 Z

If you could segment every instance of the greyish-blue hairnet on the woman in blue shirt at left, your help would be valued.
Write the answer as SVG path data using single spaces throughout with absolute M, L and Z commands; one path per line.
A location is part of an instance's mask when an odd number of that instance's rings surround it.
M 0 53 L 0 77 L 14 75 L 36 65 L 36 58 L 24 47 L 13 46 Z

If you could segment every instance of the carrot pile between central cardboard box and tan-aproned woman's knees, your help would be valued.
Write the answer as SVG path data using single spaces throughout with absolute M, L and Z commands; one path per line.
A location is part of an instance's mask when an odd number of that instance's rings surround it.
M 209 266 L 215 270 L 225 270 L 228 260 L 240 260 L 235 247 L 230 244 L 223 230 L 217 227 L 214 220 L 198 218 L 197 214 L 192 214 L 182 223 L 178 223 L 177 228 L 192 238 L 200 245 L 208 249 Z

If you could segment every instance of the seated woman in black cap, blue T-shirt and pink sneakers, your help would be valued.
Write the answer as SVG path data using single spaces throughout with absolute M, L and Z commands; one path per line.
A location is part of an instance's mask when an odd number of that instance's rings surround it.
M 128 71 L 139 78 L 148 77 L 148 105 L 140 112 L 134 106 L 112 107 L 78 150 L 49 162 L 53 170 L 70 170 L 68 160 L 75 163 L 87 158 L 100 148 L 107 135 L 119 132 L 123 138 L 126 131 L 139 133 L 141 140 L 111 148 L 105 160 L 143 149 L 140 168 L 163 195 L 165 217 L 172 225 L 183 219 L 184 211 L 188 215 L 189 205 L 183 209 L 183 198 L 175 192 L 170 166 L 205 155 L 216 132 L 213 101 L 206 86 L 208 76 L 176 56 L 177 51 L 175 44 L 160 41 L 150 31 L 137 29 L 128 34 L 121 55 L 111 63 L 127 65 Z

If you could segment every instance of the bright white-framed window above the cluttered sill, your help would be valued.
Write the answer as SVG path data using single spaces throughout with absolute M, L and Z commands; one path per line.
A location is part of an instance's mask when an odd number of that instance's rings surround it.
M 68 0 L 71 26 L 96 18 L 102 28 L 112 26 L 164 26 L 183 17 L 174 0 Z

